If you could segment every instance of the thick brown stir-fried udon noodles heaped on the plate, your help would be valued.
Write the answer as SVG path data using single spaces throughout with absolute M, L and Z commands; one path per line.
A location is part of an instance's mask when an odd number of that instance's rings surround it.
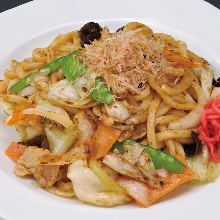
M 103 29 L 102 37 L 97 42 L 102 43 L 110 35 L 107 29 Z M 212 75 L 208 64 L 190 52 L 182 41 L 174 40 L 162 33 L 154 34 L 154 38 L 182 57 L 192 62 L 202 63 L 200 68 L 204 68 Z M 16 104 L 34 103 L 41 92 L 42 94 L 47 92 L 47 85 L 43 83 L 36 85 L 38 90 L 29 97 L 11 94 L 10 86 L 19 78 L 36 72 L 43 65 L 77 49 L 81 49 L 80 39 L 78 32 L 74 31 L 59 35 L 46 48 L 34 49 L 30 58 L 21 62 L 12 60 L 11 69 L 4 71 L 4 80 L 0 82 L 2 99 Z M 154 148 L 165 149 L 171 155 L 181 154 L 185 156 L 183 144 L 192 142 L 191 131 L 196 131 L 198 125 L 196 122 L 190 122 L 195 116 L 192 112 L 195 109 L 200 109 L 207 101 L 207 98 L 204 98 L 204 91 L 207 89 L 210 91 L 210 88 L 207 88 L 210 87 L 210 84 L 203 85 L 203 79 L 195 73 L 192 67 L 173 67 L 172 74 L 174 82 L 172 86 L 161 86 L 155 78 L 149 76 L 148 83 L 141 93 L 130 94 L 124 99 L 124 104 L 132 115 L 125 122 L 108 116 L 106 105 L 100 105 L 89 98 L 70 105 L 65 105 L 59 100 L 50 101 L 65 109 L 71 117 L 79 109 L 83 109 L 95 121 L 102 121 L 105 125 L 124 130 L 131 139 L 139 140 L 141 143 Z M 62 72 L 56 71 L 49 76 L 49 82 L 54 84 L 63 78 Z M 189 117 L 190 113 L 191 117 Z M 185 119 L 188 120 L 188 123 Z M 180 121 L 180 125 L 172 125 L 172 123 L 175 124 L 175 121 Z M 181 128 L 181 123 L 186 123 L 186 125 L 184 124 L 185 126 Z M 60 192 L 56 193 L 55 188 L 51 190 L 55 194 L 61 194 Z M 64 193 L 63 196 L 65 195 L 67 197 L 73 196 L 71 193 Z

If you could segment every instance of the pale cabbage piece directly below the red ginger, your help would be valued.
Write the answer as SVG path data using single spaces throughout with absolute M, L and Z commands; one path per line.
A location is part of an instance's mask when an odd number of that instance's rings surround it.
M 203 146 L 200 154 L 187 158 L 187 164 L 195 173 L 195 180 L 201 182 L 214 181 L 220 174 L 220 164 L 208 161 L 206 146 Z

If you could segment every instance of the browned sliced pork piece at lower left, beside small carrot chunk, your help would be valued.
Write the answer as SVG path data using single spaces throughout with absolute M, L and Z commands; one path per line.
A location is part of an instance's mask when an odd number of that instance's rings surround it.
M 48 188 L 66 178 L 67 165 L 85 157 L 81 148 L 59 156 L 50 154 L 47 149 L 28 147 L 17 161 L 14 172 L 18 176 L 33 175 L 42 187 Z

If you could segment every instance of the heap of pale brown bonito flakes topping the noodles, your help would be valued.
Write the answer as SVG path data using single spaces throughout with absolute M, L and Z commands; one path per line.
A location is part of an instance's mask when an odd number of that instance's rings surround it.
M 160 81 L 167 79 L 170 70 L 162 51 L 161 43 L 129 31 L 114 34 L 97 45 L 86 45 L 82 59 L 120 97 L 127 92 L 140 93 L 148 74 Z

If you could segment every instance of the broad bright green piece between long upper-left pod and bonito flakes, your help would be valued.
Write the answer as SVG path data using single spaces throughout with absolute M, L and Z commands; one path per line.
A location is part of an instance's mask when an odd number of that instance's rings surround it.
M 70 82 L 74 82 L 76 78 L 82 76 L 86 71 L 85 66 L 76 58 L 75 55 L 67 56 L 61 66 L 61 69 L 65 78 Z

